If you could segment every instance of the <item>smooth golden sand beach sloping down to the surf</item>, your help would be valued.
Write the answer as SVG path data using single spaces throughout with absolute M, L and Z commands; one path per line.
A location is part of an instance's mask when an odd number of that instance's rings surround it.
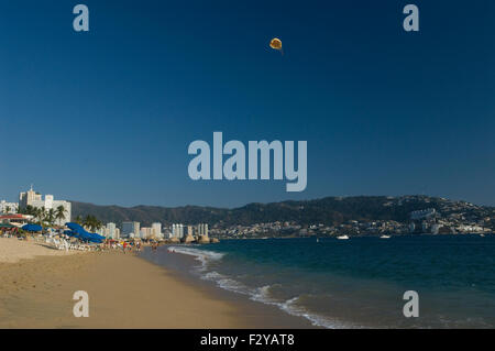
M 274 310 L 255 306 L 254 301 L 242 303 L 216 294 L 205 285 L 180 278 L 134 254 L 90 252 L 65 255 L 57 252 L 55 256 L 36 255 L 2 262 L 0 275 L 0 328 L 299 326 Z M 88 318 L 73 315 L 76 304 L 73 294 L 76 290 L 86 290 L 89 295 Z

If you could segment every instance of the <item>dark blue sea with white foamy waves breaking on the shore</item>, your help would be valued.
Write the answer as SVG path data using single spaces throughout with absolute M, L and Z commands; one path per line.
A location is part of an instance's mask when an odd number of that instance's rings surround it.
M 494 328 L 495 235 L 224 240 L 174 245 L 191 270 L 324 328 Z M 406 290 L 419 317 L 406 318 Z

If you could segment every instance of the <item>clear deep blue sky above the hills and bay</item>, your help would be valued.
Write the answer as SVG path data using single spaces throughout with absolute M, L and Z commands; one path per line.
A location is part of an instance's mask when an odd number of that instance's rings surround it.
M 90 32 L 72 28 L 90 10 Z M 402 9 L 416 3 L 420 32 Z M 495 205 L 495 3 L 0 1 L 0 198 Z M 284 55 L 267 46 L 274 36 Z M 194 140 L 308 141 L 308 186 L 194 182 Z

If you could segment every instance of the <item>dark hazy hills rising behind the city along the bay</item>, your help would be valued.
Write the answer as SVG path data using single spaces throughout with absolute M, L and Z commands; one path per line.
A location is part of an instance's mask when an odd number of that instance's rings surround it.
M 170 223 L 209 223 L 228 227 L 233 224 L 253 224 L 260 222 L 295 221 L 299 224 L 323 223 L 337 226 L 349 220 L 395 220 L 407 221 L 410 212 L 426 208 L 454 208 L 493 213 L 493 208 L 474 206 L 464 201 L 453 201 L 429 196 L 355 196 L 326 197 L 314 200 L 287 200 L 271 204 L 249 204 L 239 208 L 215 208 L 201 206 L 160 207 L 160 206 L 101 206 L 70 201 L 73 218 L 92 215 L 103 223 L 138 221 L 142 227 L 153 222 Z

